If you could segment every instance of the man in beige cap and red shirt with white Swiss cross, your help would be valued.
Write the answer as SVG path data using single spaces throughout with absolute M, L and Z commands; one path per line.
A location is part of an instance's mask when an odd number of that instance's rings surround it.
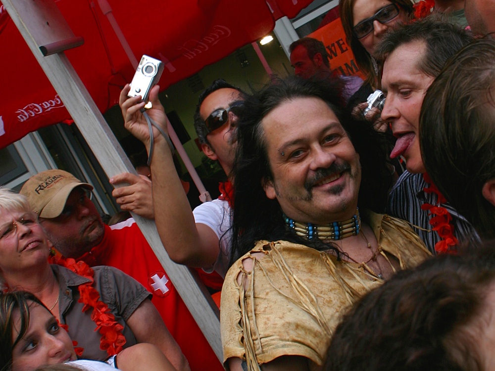
M 189 361 L 192 371 L 223 370 L 179 293 L 134 219 L 106 226 L 90 199 L 93 187 L 62 170 L 31 177 L 22 187 L 53 246 L 90 266 L 109 265 L 153 293 L 151 302 Z

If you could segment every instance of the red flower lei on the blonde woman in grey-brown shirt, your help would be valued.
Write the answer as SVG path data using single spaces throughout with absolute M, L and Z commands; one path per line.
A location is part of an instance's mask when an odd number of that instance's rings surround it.
M 99 292 L 93 287 L 93 282 L 95 281 L 94 271 L 83 261 L 76 262 L 74 259 L 64 258 L 62 256 L 56 257 L 53 252 L 50 255 L 49 263 L 58 264 L 71 270 L 76 275 L 90 279 L 89 282 L 78 286 L 80 295 L 78 302 L 84 303 L 83 312 L 93 308 L 91 319 L 96 323 L 95 331 L 98 330 L 101 334 L 99 348 L 106 350 L 108 356 L 114 356 L 119 353 L 126 343 L 126 338 L 122 333 L 124 327 L 115 321 L 115 316 L 108 309 L 108 305 L 99 300 Z M 67 325 L 61 326 L 68 332 Z M 74 346 L 77 345 L 77 342 L 73 343 Z M 78 347 L 74 349 L 78 356 L 82 355 L 83 348 Z

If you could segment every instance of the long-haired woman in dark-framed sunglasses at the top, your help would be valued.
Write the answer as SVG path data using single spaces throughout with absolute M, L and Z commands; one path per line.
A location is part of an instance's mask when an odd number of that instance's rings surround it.
M 373 59 L 375 45 L 396 22 L 407 22 L 414 13 L 412 0 L 340 0 L 339 8 L 347 44 L 366 80 L 349 100 L 348 106 L 366 101 L 380 89 L 380 71 Z

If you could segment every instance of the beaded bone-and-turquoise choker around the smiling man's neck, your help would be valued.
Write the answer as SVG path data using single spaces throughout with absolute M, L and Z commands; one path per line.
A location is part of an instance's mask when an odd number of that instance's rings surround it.
M 318 226 L 311 223 L 295 222 L 284 214 L 285 223 L 287 226 L 307 240 L 319 238 L 321 240 L 338 240 L 350 236 L 355 236 L 361 229 L 361 218 L 359 217 L 359 209 L 356 209 L 356 214 L 343 222 L 333 222 L 325 226 Z

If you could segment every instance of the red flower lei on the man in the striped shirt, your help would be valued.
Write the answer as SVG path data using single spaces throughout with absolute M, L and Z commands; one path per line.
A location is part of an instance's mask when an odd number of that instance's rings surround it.
M 441 240 L 435 244 L 435 251 L 439 254 L 455 253 L 456 249 L 454 246 L 458 241 L 453 234 L 454 226 L 450 224 L 452 216 L 445 207 L 440 206 L 447 202 L 447 200 L 437 186 L 433 184 L 428 174 L 424 173 L 423 179 L 430 185 L 429 187 L 425 186 L 423 190 L 426 193 L 435 193 L 437 195 L 438 206 L 433 206 L 426 202 L 421 205 L 421 210 L 428 210 L 430 212 L 429 216 L 432 218 L 429 223 L 433 227 L 432 229 L 436 231 L 441 238 Z

